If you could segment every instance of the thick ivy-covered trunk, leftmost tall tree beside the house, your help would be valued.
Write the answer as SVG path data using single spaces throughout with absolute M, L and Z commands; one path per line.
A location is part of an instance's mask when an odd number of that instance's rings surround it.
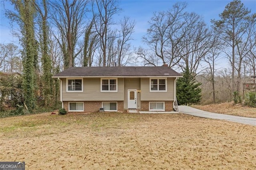
M 34 17 L 35 8 L 31 0 L 11 0 L 16 12 L 7 11 L 7 16 L 12 22 L 20 26 L 22 36 L 22 65 L 23 81 L 22 89 L 24 93 L 24 105 L 31 113 L 36 105 L 36 88 L 38 70 L 38 43 L 35 39 Z

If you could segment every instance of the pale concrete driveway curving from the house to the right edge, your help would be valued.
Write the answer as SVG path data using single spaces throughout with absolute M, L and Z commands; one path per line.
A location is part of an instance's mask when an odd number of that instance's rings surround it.
M 233 116 L 233 115 L 224 115 L 219 113 L 212 113 L 212 112 L 206 112 L 199 109 L 195 109 L 188 106 L 179 106 L 179 112 L 184 113 L 187 115 L 193 115 L 197 117 L 204 117 L 204 118 L 210 118 L 210 119 L 220 119 L 220 120 L 226 120 L 230 122 L 237 122 L 242 123 L 246 125 L 253 125 L 256 126 L 256 118 L 250 118 L 250 117 L 240 117 L 240 116 Z

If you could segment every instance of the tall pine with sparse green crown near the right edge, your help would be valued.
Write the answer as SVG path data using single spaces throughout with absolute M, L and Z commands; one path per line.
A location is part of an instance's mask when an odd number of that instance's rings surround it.
M 219 15 L 220 20 L 211 20 L 213 24 L 212 27 L 220 33 L 220 38 L 224 41 L 224 44 L 232 48 L 232 56 L 228 56 L 228 60 L 231 62 L 232 66 L 232 92 L 235 91 L 236 71 L 240 74 L 240 71 L 235 65 L 237 62 L 235 48 L 239 43 L 242 43 L 242 37 L 245 36 L 246 28 L 248 28 L 249 25 L 248 17 L 250 12 L 251 10 L 248 10 L 240 0 L 234 0 L 230 2 Z M 239 89 L 239 87 L 237 88 Z

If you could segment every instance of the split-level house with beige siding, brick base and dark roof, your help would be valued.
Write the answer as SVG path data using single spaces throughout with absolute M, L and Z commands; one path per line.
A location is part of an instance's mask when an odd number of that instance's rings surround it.
M 166 67 L 165 67 L 166 66 Z M 179 73 L 161 67 L 70 67 L 60 79 L 60 101 L 67 111 L 172 111 Z

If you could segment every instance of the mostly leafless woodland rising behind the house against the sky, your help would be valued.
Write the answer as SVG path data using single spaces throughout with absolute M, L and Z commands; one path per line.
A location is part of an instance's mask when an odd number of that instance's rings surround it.
M 230 101 L 242 83 L 256 75 L 256 14 L 239 0 L 227 4 L 209 27 L 202 16 L 187 12 L 186 2 L 154 12 L 144 45 L 133 47 L 135 22 L 118 0 L 10 0 L 6 10 L 20 46 L 0 44 L 0 71 L 22 74 L 22 102 L 30 111 L 55 104 L 59 82 L 52 75 L 69 67 L 160 66 L 190 73 L 202 83 L 203 104 Z M 226 68 L 216 63 L 227 58 Z M 218 69 L 217 69 L 218 68 Z M 2 84 L 3 86 L 3 84 Z M 1 87 L 2 87 L 1 86 Z M 1 89 L 0 89 L 1 90 Z

